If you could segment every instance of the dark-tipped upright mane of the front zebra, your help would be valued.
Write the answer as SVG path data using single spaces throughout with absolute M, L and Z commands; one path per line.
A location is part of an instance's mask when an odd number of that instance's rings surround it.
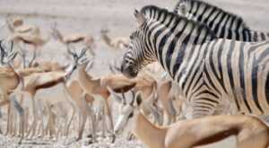
M 199 30 L 204 30 L 207 32 L 213 39 L 216 39 L 216 35 L 208 26 L 206 26 L 204 23 L 195 22 L 193 20 L 188 20 L 184 16 L 179 16 L 177 13 L 169 12 L 167 9 L 157 7 L 155 5 L 146 5 L 144 6 L 141 11 L 141 13 L 144 14 L 146 19 L 153 19 L 155 21 L 158 21 L 160 19 L 159 16 L 164 15 L 165 17 L 171 17 L 172 19 L 177 19 L 178 22 L 187 22 L 188 24 L 192 24 L 195 26 L 195 28 L 198 28 Z M 167 25 L 167 24 L 165 24 Z M 175 24 L 177 25 L 177 24 Z

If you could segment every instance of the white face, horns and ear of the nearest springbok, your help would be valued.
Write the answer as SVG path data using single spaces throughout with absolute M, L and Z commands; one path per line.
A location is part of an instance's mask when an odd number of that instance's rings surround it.
M 126 102 L 126 99 L 117 95 L 115 91 L 112 91 L 110 88 L 108 88 L 108 91 L 110 91 L 114 100 L 120 103 L 119 115 L 114 126 L 114 134 L 119 135 L 128 124 L 133 123 L 131 120 L 134 119 L 134 114 L 138 111 L 142 103 L 142 96 L 141 92 L 137 92 L 136 94 L 133 92 L 132 100 Z

